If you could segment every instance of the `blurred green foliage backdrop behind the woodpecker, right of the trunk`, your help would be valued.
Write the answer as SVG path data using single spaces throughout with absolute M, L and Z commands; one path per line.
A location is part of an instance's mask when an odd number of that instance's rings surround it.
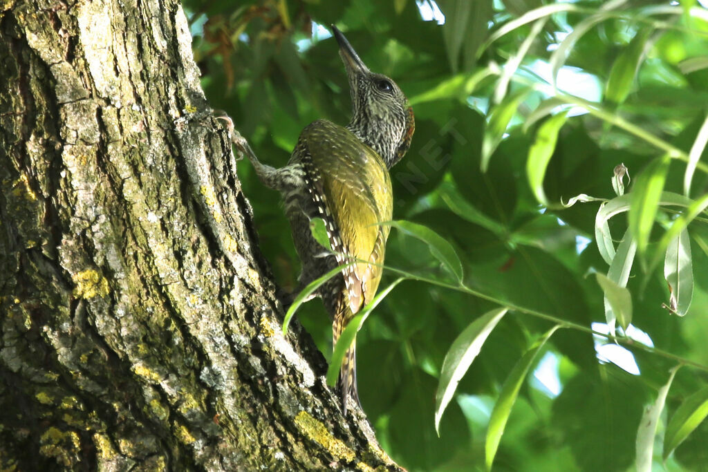
M 708 470 L 704 7 L 185 0 L 207 96 L 265 163 L 285 165 L 313 120 L 348 122 L 332 23 L 370 69 L 391 76 L 411 100 L 416 134 L 392 169 L 394 218 L 445 238 L 462 261 L 465 289 L 406 280 L 358 336 L 362 405 L 401 466 L 485 468 L 490 415 L 505 381 L 542 333 L 560 323 L 568 329 L 542 347 L 512 398 L 494 470 L 649 470 L 637 449 L 653 455 L 654 470 Z M 617 175 L 613 188 L 619 164 L 632 180 Z M 239 176 L 263 253 L 280 284 L 292 289 L 299 263 L 279 196 L 258 182 L 247 161 L 239 162 Z M 618 196 L 622 184 L 626 197 Z M 659 197 L 662 189 L 685 200 L 671 205 Z M 580 194 L 604 200 L 561 205 Z M 608 200 L 627 205 L 603 229 L 596 214 Z M 686 237 L 667 246 L 662 238 L 682 214 L 675 231 L 687 224 Z M 636 245 L 636 257 L 618 246 L 628 227 L 624 239 Z M 612 246 L 607 257 L 598 249 L 603 243 Z M 673 282 L 661 269 L 672 245 L 679 253 L 666 262 L 678 267 Z M 386 263 L 462 286 L 426 243 L 402 231 L 392 231 Z M 628 280 L 613 275 L 610 263 L 631 268 Z M 595 272 L 610 276 L 609 313 Z M 382 287 L 386 277 L 391 282 L 396 274 L 384 272 Z M 469 323 L 503 305 L 513 309 L 457 386 L 438 437 L 435 398 L 447 350 Z M 631 319 L 617 316 L 627 308 Z M 297 316 L 329 356 L 331 326 L 321 303 L 306 304 Z M 676 365 L 684 367 L 666 405 L 656 403 Z M 646 414 L 658 426 L 641 441 Z M 666 444 L 686 436 L 675 449 Z

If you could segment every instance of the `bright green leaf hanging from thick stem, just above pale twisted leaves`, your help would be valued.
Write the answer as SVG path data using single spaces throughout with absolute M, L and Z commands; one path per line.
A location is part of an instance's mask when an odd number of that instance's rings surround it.
M 640 254 L 646 251 L 649 234 L 656 218 L 656 211 L 661 201 L 661 191 L 666 182 L 666 173 L 670 163 L 668 155 L 655 159 L 644 172 L 636 178 L 632 188 L 632 206 L 629 209 L 629 229 L 636 239 Z

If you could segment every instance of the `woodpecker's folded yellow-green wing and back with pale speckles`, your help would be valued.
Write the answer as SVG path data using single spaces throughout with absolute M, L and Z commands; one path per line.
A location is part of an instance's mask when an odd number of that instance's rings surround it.
M 335 231 L 329 231 L 334 250 L 383 263 L 389 226 L 378 223 L 391 220 L 393 195 L 381 156 L 345 127 L 326 120 L 306 127 L 300 142 L 313 164 L 304 167 L 325 196 L 325 219 L 331 217 L 334 224 Z M 381 267 L 370 263 L 356 263 L 344 272 L 352 313 L 375 295 L 381 273 Z

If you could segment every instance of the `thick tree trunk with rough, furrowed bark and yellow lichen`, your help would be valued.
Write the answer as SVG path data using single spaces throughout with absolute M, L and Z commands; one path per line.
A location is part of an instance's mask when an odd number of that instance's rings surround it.
M 190 46 L 173 1 L 0 0 L 0 467 L 394 468 L 280 332 Z

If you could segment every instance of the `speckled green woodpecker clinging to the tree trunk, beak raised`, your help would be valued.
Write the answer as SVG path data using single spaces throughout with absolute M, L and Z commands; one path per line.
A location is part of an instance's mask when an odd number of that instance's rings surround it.
M 333 318 L 336 344 L 379 286 L 389 226 L 378 223 L 390 221 L 393 210 L 389 168 L 408 151 L 415 122 L 395 82 L 370 71 L 341 31 L 335 26 L 332 30 L 349 78 L 353 109 L 349 125 L 327 120 L 308 125 L 284 168 L 263 165 L 250 149 L 246 154 L 263 183 L 282 193 L 302 261 L 300 289 L 338 265 L 368 261 L 344 268 L 314 294 Z M 336 255 L 324 251 L 312 237 L 309 221 L 314 217 L 324 219 Z M 355 343 L 344 357 L 338 388 L 346 414 L 348 396 L 359 402 Z

